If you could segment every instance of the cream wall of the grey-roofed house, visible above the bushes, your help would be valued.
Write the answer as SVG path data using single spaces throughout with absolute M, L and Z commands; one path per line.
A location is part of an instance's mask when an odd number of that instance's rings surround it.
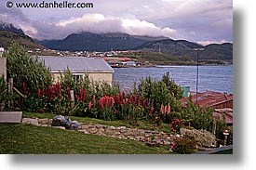
M 79 72 L 75 72 L 75 73 L 79 73 Z M 86 75 L 85 72 L 81 72 L 83 73 L 84 75 Z M 54 78 L 54 82 L 58 82 L 58 80 L 61 79 L 61 73 L 52 73 L 52 76 Z M 95 82 L 106 82 L 108 83 L 109 85 L 112 85 L 112 76 L 113 76 L 113 73 L 108 73 L 108 72 L 90 72 L 88 73 L 88 76 L 90 78 L 90 80 L 93 80 Z

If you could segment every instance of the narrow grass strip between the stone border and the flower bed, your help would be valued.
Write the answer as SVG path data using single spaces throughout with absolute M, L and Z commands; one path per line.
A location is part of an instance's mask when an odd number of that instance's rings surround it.
M 37 118 L 49 118 L 52 119 L 55 114 L 50 113 L 34 113 L 34 112 L 23 112 L 23 117 L 37 117 Z M 88 118 L 88 117 L 74 117 L 69 116 L 72 121 L 77 121 L 79 123 L 92 123 L 92 124 L 104 124 L 104 125 L 114 125 L 114 126 L 126 126 L 129 128 L 139 128 L 145 130 L 155 130 L 162 131 L 166 133 L 171 133 L 169 124 L 161 124 L 161 126 L 155 126 L 154 124 L 149 124 L 146 121 L 139 121 L 139 125 L 132 126 L 127 121 L 104 121 L 100 119 Z

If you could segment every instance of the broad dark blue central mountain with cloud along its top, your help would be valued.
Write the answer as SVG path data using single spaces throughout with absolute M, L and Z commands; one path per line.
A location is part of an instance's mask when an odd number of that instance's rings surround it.
M 63 40 L 45 40 L 37 43 L 51 49 L 69 51 L 129 50 L 148 41 L 165 37 L 134 36 L 128 33 L 72 33 Z

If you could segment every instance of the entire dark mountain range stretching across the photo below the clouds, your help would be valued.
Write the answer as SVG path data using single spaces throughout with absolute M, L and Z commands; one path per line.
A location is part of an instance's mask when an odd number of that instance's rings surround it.
M 9 46 L 18 41 L 27 48 L 50 48 L 68 51 L 110 51 L 110 50 L 143 50 L 173 57 L 196 59 L 195 48 L 200 51 L 200 59 L 233 59 L 233 44 L 224 43 L 202 46 L 186 40 L 173 40 L 168 37 L 136 36 L 128 33 L 72 33 L 62 40 L 34 40 L 13 24 L 0 21 L 0 46 Z M 47 47 L 46 47 L 47 46 Z

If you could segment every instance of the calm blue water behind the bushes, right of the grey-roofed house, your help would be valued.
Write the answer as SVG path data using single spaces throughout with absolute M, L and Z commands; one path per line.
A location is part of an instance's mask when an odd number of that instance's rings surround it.
M 114 68 L 113 82 L 119 83 L 121 89 L 131 90 L 133 82 L 140 82 L 143 77 L 151 75 L 154 79 L 161 79 L 169 72 L 176 84 L 190 86 L 195 91 L 196 66 L 169 66 L 165 68 Z M 199 66 L 198 91 L 207 90 L 233 93 L 233 66 Z

